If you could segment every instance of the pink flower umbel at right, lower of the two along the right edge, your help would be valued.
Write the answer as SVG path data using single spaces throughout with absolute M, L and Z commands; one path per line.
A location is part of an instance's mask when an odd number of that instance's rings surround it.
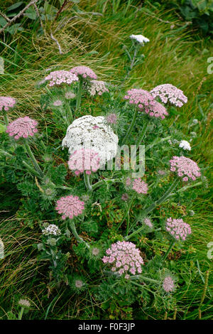
M 192 233 L 189 224 L 182 219 L 172 219 L 171 217 L 165 223 L 165 230 L 176 240 L 185 241 L 186 237 Z

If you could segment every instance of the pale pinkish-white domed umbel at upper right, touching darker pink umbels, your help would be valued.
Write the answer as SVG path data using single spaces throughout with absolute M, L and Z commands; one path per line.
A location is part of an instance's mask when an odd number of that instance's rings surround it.
M 182 107 L 184 103 L 187 103 L 187 97 L 183 94 L 182 90 L 170 84 L 159 85 L 153 88 L 151 95 L 159 97 L 163 103 L 170 102 L 170 104 L 175 104 L 176 107 Z

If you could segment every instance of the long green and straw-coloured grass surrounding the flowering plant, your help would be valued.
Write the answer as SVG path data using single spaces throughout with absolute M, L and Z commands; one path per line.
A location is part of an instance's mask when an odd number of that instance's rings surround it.
M 11 4 L 13 1 L 5 2 Z M 120 83 L 126 66 L 123 45 L 130 45 L 129 36 L 132 33 L 142 33 L 151 41 L 142 50 L 146 55 L 145 62 L 133 68 L 123 92 L 131 87 L 151 90 L 155 85 L 166 82 L 185 92 L 188 103 L 179 115 L 170 118 L 168 126 L 175 122 L 187 140 L 190 131 L 194 131 L 190 127 L 192 119 L 199 120 L 195 128 L 197 138 L 192 142 L 192 155 L 197 163 L 204 166 L 204 175 L 210 181 L 213 80 L 212 75 L 207 73 L 207 58 L 213 54 L 212 42 L 207 37 L 201 38 L 197 31 L 185 28 L 173 10 L 159 10 L 151 3 L 140 6 L 139 2 L 81 1 L 82 10 L 102 15 L 77 14 L 77 19 L 57 30 L 65 15 L 67 18 L 76 15 L 70 6 L 57 22 L 51 23 L 51 27 L 50 22 L 45 23 L 46 35 L 38 35 L 38 24 L 31 23 L 31 28 L 12 37 L 5 36 L 4 41 L 0 41 L 1 57 L 5 60 L 5 74 L 0 77 L 0 95 L 17 97 L 20 102 L 20 107 L 9 118 L 12 120 L 31 114 L 44 121 L 45 114 L 39 104 L 40 90 L 35 88 L 35 82 L 44 77 L 46 68 L 55 65 L 63 69 L 88 65 L 103 80 Z M 60 43 L 62 55 L 50 38 L 50 28 Z M 94 301 L 89 293 L 73 298 L 71 293 L 70 296 L 65 295 L 61 288 L 51 291 L 50 286 L 46 286 L 45 265 L 37 262 L 37 252 L 32 247 L 38 242 L 39 234 L 16 220 L 15 212 L 20 200 L 17 190 L 15 193 L 4 184 L 0 186 L 0 235 L 6 249 L 6 259 L 1 261 L 0 267 L 0 316 L 5 317 L 11 309 L 16 309 L 19 296 L 28 296 L 33 303 L 33 312 L 28 313 L 26 318 L 102 318 L 101 304 Z M 5 198 L 11 200 L 6 202 Z M 185 282 L 176 293 L 176 317 L 179 319 L 194 320 L 199 317 L 198 308 L 207 270 L 210 276 L 201 306 L 202 319 L 213 316 L 212 263 L 207 258 L 207 243 L 213 241 L 211 208 L 210 187 L 200 193 L 191 208 L 187 208 L 194 210 L 195 215 L 188 221 L 192 225 L 193 236 L 179 264 L 180 279 Z M 168 312 L 167 317 L 173 318 L 176 311 Z M 110 311 L 108 313 L 107 317 Z M 155 308 L 144 313 L 141 307 L 133 310 L 133 317 L 163 319 L 165 314 Z

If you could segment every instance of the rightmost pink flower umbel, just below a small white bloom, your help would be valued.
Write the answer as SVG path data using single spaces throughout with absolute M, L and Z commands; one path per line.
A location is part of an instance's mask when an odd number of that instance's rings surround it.
M 185 156 L 173 156 L 170 160 L 170 171 L 177 172 L 182 181 L 188 181 L 189 178 L 195 181 L 201 176 L 200 168 L 197 163 Z

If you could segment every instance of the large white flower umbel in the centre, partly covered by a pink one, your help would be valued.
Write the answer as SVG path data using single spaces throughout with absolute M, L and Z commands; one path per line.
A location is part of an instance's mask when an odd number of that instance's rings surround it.
M 92 149 L 99 153 L 100 165 L 116 156 L 119 138 L 104 117 L 86 115 L 75 119 L 67 128 L 67 134 L 62 140 L 62 147 L 67 147 L 69 153 L 79 149 Z

